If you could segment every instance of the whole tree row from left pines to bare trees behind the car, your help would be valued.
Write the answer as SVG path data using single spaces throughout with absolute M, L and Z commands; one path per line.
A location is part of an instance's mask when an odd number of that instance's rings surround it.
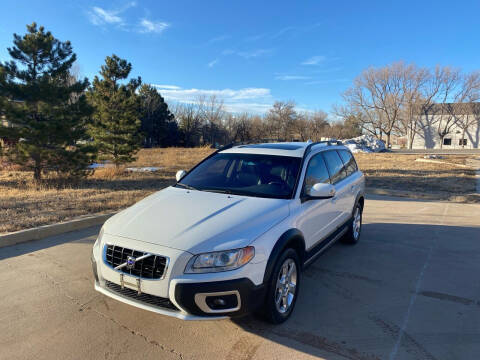
M 84 176 L 97 160 L 118 166 L 142 146 L 360 134 L 353 118 L 332 124 L 324 112 L 297 112 L 293 102 L 276 102 L 265 116 L 234 115 L 215 96 L 170 111 L 154 87 L 129 78 L 132 64 L 116 55 L 106 57 L 92 83 L 81 79 L 71 43 L 36 23 L 25 35 L 14 34 L 7 50 L 11 60 L 0 62 L 0 116 L 10 126 L 0 126 L 0 155 L 31 169 L 36 181 L 49 172 Z

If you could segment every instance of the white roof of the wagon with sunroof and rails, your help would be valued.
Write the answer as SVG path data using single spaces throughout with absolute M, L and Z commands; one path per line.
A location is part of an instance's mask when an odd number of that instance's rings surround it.
M 293 157 L 303 157 L 305 154 L 305 149 L 307 146 L 312 144 L 312 142 L 281 142 L 281 143 L 262 143 L 262 144 L 246 144 L 246 145 L 237 145 L 231 148 L 222 150 L 224 154 L 229 153 L 238 153 L 238 154 L 261 154 L 261 155 L 278 155 L 278 156 L 293 156 Z M 327 147 L 328 148 L 342 148 L 346 149 L 344 146 L 340 145 L 329 145 L 328 143 L 313 143 L 312 149 L 317 149 L 317 147 Z

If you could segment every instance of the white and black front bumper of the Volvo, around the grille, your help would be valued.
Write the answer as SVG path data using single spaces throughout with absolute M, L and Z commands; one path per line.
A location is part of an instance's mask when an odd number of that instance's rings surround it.
M 147 246 L 131 241 L 128 245 L 136 249 Z M 99 244 L 92 254 L 95 289 L 123 303 L 182 320 L 242 316 L 263 303 L 265 291 L 259 280 L 263 279 L 263 263 L 249 263 L 240 269 L 222 273 L 184 274 L 191 254 L 155 246 L 155 249 L 145 251 L 169 257 L 170 266 L 165 277 L 161 280 L 141 279 L 141 286 L 137 288 L 134 286 L 137 279 L 125 275 L 127 279 L 121 287 L 121 271 L 105 263 L 102 249 Z M 137 292 L 140 288 L 141 291 Z

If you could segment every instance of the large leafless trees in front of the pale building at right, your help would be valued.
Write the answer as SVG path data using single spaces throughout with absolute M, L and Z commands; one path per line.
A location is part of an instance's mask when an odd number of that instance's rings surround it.
M 391 135 L 400 135 L 411 149 L 415 137 L 430 129 L 443 144 L 455 127 L 465 135 L 479 121 L 480 72 L 397 62 L 366 69 L 342 97 L 337 116 L 354 119 L 362 131 L 386 139 L 387 145 Z

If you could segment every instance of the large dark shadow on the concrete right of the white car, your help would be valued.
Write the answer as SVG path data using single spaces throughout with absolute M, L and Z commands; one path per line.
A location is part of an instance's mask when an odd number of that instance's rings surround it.
M 288 321 L 232 321 L 329 360 L 471 358 L 480 353 L 478 273 L 480 226 L 364 224 L 357 245 L 338 243 L 305 269 Z

